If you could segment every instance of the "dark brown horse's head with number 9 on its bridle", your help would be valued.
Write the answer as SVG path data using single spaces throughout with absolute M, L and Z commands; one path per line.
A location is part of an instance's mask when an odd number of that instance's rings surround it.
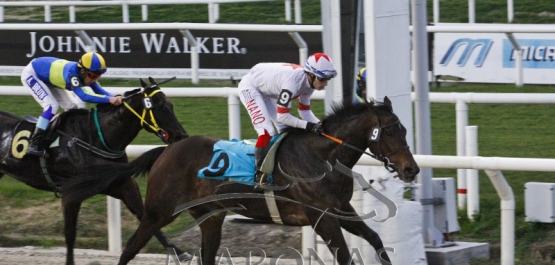
M 420 168 L 416 164 L 407 144 L 407 129 L 393 113 L 391 101 L 385 97 L 383 104 L 366 103 L 370 113 L 371 128 L 368 133 L 368 149 L 374 158 L 382 161 L 386 169 L 396 172 L 398 177 L 411 182 Z

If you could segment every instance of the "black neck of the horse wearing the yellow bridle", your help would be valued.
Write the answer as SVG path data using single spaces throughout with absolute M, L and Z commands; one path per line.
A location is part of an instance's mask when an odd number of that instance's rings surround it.
M 123 107 L 99 112 L 94 128 L 97 135 L 101 130 L 105 144 L 114 150 L 124 150 L 142 129 L 140 119 Z

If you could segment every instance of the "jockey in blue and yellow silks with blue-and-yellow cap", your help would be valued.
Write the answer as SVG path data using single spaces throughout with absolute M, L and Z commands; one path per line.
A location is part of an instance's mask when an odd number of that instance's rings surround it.
M 43 109 L 27 154 L 48 157 L 41 142 L 50 120 L 61 106 L 64 110 L 85 108 L 85 102 L 120 105 L 122 96 L 114 96 L 96 81 L 106 72 L 106 62 L 98 53 L 85 53 L 79 62 L 55 57 L 33 59 L 21 73 L 21 83 L 31 91 Z M 89 86 L 88 91 L 83 86 Z

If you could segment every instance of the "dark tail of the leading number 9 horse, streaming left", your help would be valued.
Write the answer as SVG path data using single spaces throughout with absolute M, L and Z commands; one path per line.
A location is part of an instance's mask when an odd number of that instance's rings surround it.
M 62 196 L 68 201 L 81 202 L 104 193 L 115 182 L 146 175 L 165 149 L 165 146 L 151 149 L 130 163 L 103 163 L 79 169 L 74 178 L 62 183 Z

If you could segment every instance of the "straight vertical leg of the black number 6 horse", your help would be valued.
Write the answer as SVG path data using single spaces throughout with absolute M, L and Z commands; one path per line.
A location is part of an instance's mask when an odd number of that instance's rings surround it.
M 81 209 L 81 202 L 70 202 L 62 199 L 62 210 L 64 213 L 64 235 L 66 239 L 66 265 L 74 265 L 73 248 L 77 231 L 77 217 Z

